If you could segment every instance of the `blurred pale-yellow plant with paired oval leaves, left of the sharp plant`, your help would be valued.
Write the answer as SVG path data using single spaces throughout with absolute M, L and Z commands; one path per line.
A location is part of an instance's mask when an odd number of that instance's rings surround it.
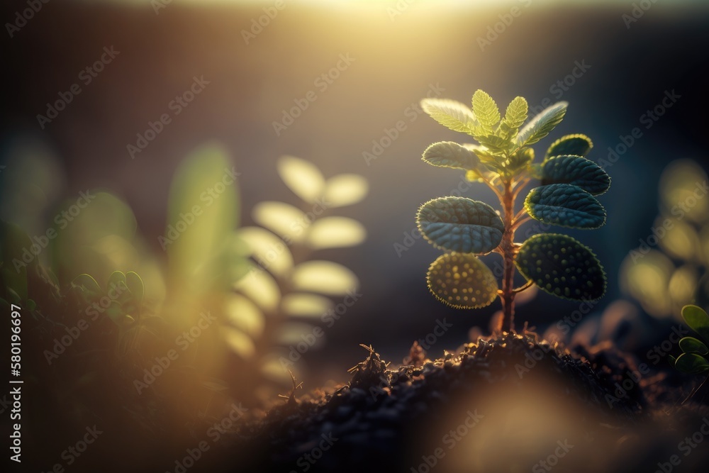
M 260 226 L 238 230 L 249 270 L 235 286 L 229 311 L 238 314 L 235 324 L 252 335 L 250 350 L 242 355 L 257 360 L 270 379 L 290 384 L 291 377 L 272 347 L 284 347 L 282 355 L 287 357 L 288 347 L 303 343 L 303 335 L 313 333 L 313 323 L 322 323 L 334 308 L 333 297 L 358 289 L 359 280 L 350 269 L 313 255 L 364 241 L 367 232 L 362 223 L 333 213 L 364 199 L 369 187 L 359 174 L 325 179 L 312 162 L 294 156 L 280 157 L 277 170 L 299 201 L 296 205 L 259 202 L 252 218 Z M 231 340 L 238 341 L 233 335 Z

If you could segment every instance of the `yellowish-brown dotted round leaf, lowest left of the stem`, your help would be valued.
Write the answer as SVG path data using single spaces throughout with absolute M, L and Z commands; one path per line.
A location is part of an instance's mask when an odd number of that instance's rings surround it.
M 440 255 L 428 268 L 426 279 L 436 299 L 454 308 L 489 306 L 497 297 L 495 276 L 473 255 Z

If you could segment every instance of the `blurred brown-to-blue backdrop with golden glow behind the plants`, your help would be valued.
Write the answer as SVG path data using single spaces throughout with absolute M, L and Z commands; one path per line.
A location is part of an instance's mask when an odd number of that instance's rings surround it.
M 462 183 L 460 173 L 420 160 L 430 143 L 464 140 L 417 111 L 427 93 L 468 103 L 476 89 L 484 89 L 501 106 L 521 95 L 537 110 L 545 100 L 569 101 L 566 118 L 535 147 L 537 155 L 566 133 L 584 133 L 595 144 L 589 157 L 608 161 L 609 148 L 622 143 L 622 136 L 642 130 L 607 169 L 613 179 L 601 196 L 607 225 L 569 232 L 593 247 L 608 272 L 608 293 L 595 313 L 627 296 L 620 291 L 620 267 L 651 234 L 663 169 L 680 158 L 700 168 L 706 164 L 709 6 L 704 1 L 286 0 L 282 6 L 179 0 L 43 4 L 25 26 L 0 41 L 2 217 L 22 220 L 32 234 L 43 230 L 42 222 L 55 215 L 61 199 L 108 189 L 133 209 L 147 250 L 161 261 L 158 237 L 167 221 L 174 172 L 205 142 L 221 143 L 241 173 L 243 226 L 254 223 L 251 209 L 260 201 L 296 200 L 277 174 L 281 155 L 310 160 L 325 177 L 361 174 L 369 194 L 341 214 L 360 221 L 367 240 L 316 254 L 350 267 L 362 294 L 298 365 L 307 385 L 318 386 L 347 378 L 345 369 L 364 354 L 359 343 L 399 362 L 413 340 L 446 318 L 453 327 L 432 349 L 440 355 L 468 340 L 471 327 L 485 333 L 498 309 L 498 303 L 481 311 L 442 306 L 425 286 L 426 269 L 438 251 L 416 240 L 397 252 L 396 244 L 410 241 L 405 237 L 415 228 L 416 208 Z M 13 22 L 26 8 L 24 1 L 6 1 L 1 18 Z M 277 14 L 266 21 L 264 8 Z M 633 17 L 634 8 L 639 18 Z M 259 18 L 265 26 L 252 30 Z M 85 84 L 79 73 L 104 48 L 119 53 Z M 352 58 L 350 64 L 330 73 L 338 62 L 345 64 L 342 57 Z M 331 83 L 318 80 L 322 74 L 332 74 Z M 194 77 L 208 84 L 173 115 L 170 102 Z M 564 80 L 563 87 L 557 83 Z M 81 93 L 40 126 L 38 114 L 74 83 Z M 316 99 L 286 129 L 275 130 L 274 122 L 308 91 Z M 643 115 L 671 91 L 680 98 L 646 128 Z M 172 116 L 171 123 L 131 157 L 127 146 L 162 113 Z M 390 144 L 384 140 L 388 146 L 376 159 L 367 160 L 364 153 L 378 151 L 374 143 L 398 121 L 406 128 Z M 46 171 L 32 189 L 16 172 L 28 162 Z M 481 184 L 463 195 L 494 202 Z M 574 302 L 539 294 L 518 308 L 518 325 L 529 321 L 543 330 L 576 308 Z M 647 315 L 642 308 L 639 313 Z M 663 326 L 650 323 L 644 330 Z

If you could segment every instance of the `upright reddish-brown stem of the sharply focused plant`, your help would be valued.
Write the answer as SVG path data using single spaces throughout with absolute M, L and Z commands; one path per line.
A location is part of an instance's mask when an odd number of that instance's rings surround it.
M 502 235 L 500 244 L 503 257 L 503 278 L 502 278 L 502 311 L 503 318 L 498 328 L 499 332 L 515 331 L 515 228 L 513 219 L 515 217 L 515 196 L 513 194 L 512 182 L 506 179 L 503 182 L 504 191 L 502 205 L 505 212 L 505 233 Z

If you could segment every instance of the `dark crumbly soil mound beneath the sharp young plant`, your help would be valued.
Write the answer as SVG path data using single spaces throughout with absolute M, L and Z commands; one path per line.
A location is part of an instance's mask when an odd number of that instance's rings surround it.
M 674 375 L 641 375 L 610 345 L 505 333 L 437 360 L 414 344 L 397 366 L 366 348 L 349 383 L 301 394 L 294 382 L 243 426 L 235 471 L 706 471 L 709 441 L 681 442 L 709 409 L 682 406 L 680 389 L 660 387 Z

